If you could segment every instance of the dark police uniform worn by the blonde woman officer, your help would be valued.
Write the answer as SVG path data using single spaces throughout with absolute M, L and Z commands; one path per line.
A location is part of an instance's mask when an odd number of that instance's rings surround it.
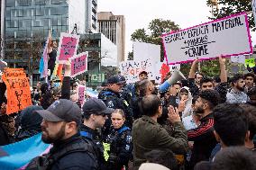
M 117 130 L 112 129 L 106 142 L 110 144 L 107 160 L 108 169 L 121 170 L 123 166 L 128 169 L 128 162 L 133 157 L 132 130 L 125 125 Z

